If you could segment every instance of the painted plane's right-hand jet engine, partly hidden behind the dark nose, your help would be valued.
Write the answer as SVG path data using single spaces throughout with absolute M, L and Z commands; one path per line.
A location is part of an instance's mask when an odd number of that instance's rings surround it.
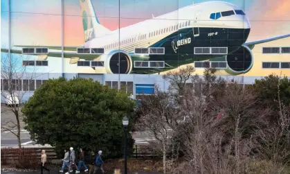
M 250 71 L 253 67 L 253 53 L 248 46 L 242 45 L 237 51 L 226 55 L 227 73 L 239 75 Z

